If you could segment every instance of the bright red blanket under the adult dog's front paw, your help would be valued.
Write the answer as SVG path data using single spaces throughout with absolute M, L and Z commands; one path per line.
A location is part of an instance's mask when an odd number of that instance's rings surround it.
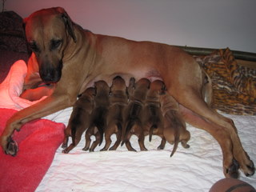
M 0 134 L 15 110 L 0 109 Z M 63 141 L 65 126 L 46 119 L 26 123 L 15 132 L 18 154 L 4 154 L 0 149 L 0 191 L 34 191 L 41 182 Z

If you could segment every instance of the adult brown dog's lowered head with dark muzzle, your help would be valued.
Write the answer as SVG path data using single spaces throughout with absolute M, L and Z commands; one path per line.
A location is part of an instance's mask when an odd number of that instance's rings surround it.
M 77 41 L 73 23 L 61 7 L 38 10 L 24 19 L 26 39 L 34 52 L 43 82 L 58 82 L 70 38 Z M 71 39 L 71 40 L 72 40 Z

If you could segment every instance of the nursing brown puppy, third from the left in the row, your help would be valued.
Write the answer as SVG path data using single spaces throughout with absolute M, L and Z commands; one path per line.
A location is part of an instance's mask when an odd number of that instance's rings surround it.
M 128 93 L 126 89 L 126 82 L 120 76 L 113 79 L 112 86 L 110 86 L 110 110 L 106 118 L 107 128 L 105 131 L 106 145 L 102 150 L 107 150 L 111 144 L 111 135 L 116 134 L 117 141 L 110 150 L 116 150 L 122 141 L 122 129 L 124 123 L 124 109 L 127 106 Z

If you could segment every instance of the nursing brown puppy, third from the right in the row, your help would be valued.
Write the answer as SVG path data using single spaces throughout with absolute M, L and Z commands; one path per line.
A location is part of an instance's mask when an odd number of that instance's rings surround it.
M 125 129 L 122 131 L 122 145 L 126 143 L 128 150 L 134 150 L 130 145 L 130 137 L 135 134 L 138 137 L 140 150 L 146 150 L 144 146 L 144 133 L 142 127 L 142 112 L 146 93 L 150 89 L 150 80 L 141 78 L 135 83 L 134 78 L 130 78 L 128 87 L 129 102 L 125 110 Z

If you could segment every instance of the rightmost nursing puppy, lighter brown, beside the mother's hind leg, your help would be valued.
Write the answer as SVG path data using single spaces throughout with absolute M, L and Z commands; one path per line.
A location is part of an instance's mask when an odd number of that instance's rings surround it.
M 184 148 L 190 147 L 187 142 L 190 140 L 190 132 L 186 130 L 186 122 L 178 111 L 178 102 L 167 92 L 160 97 L 161 110 L 164 117 L 163 135 L 167 142 L 174 144 L 170 157 L 174 155 L 178 142 Z

